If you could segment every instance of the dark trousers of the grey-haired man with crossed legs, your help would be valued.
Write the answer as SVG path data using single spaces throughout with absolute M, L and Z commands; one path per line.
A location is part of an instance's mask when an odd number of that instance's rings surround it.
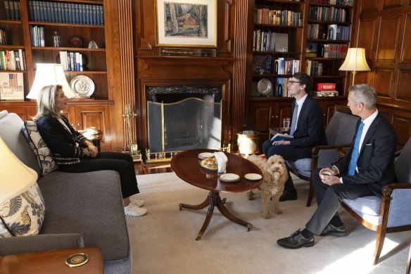
M 310 232 L 320 235 L 324 228 L 330 223 L 342 223 L 337 212 L 341 200 L 355 199 L 363 196 L 374 196 L 368 184 L 360 185 L 325 185 L 321 182 L 320 168 L 311 175 L 312 185 L 314 185 L 315 197 L 317 197 L 318 208 L 305 225 Z

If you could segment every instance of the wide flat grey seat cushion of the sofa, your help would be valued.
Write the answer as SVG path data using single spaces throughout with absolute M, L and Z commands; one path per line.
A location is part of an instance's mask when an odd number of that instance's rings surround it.
M 84 247 L 101 247 L 104 261 L 129 256 L 118 172 L 56 170 L 40 178 L 39 187 L 46 203 L 46 219 L 40 234 L 79 233 Z

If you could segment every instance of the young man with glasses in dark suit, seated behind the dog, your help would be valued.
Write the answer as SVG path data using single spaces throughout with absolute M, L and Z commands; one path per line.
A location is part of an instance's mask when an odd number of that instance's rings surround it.
M 311 158 L 312 147 L 327 144 L 322 110 L 320 104 L 309 95 L 311 89 L 312 78 L 306 73 L 296 73 L 289 80 L 287 90 L 296 100 L 292 104 L 293 118 L 288 133 L 294 138 L 291 141 L 265 141 L 263 151 L 266 158 L 274 154 L 281 155 L 286 161 Z M 297 191 L 289 174 L 279 200 L 295 199 L 297 199 Z

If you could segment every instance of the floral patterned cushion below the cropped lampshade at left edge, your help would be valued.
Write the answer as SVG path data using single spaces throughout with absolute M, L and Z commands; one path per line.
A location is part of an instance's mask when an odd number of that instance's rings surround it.
M 44 213 L 43 195 L 34 182 L 22 194 L 0 203 L 0 238 L 39 234 Z

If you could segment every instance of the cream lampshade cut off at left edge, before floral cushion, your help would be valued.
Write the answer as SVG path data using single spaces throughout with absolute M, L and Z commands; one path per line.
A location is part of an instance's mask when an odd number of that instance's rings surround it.
M 22 163 L 0 137 L 0 203 L 25 192 L 37 181 L 37 173 Z

